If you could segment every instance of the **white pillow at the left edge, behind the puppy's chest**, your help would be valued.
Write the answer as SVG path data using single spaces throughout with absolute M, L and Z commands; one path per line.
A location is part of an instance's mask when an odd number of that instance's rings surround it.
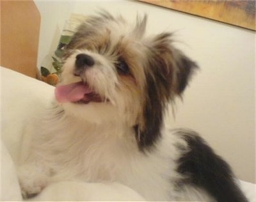
M 1 77 L 2 141 L 16 164 L 24 125 L 51 104 L 54 87 L 2 67 Z

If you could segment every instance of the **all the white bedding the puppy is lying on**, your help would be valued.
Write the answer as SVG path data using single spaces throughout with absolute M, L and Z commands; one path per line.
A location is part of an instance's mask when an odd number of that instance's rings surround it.
M 19 160 L 22 128 L 51 102 L 52 86 L 1 68 L 1 201 L 22 201 L 15 164 Z M 250 202 L 255 184 L 239 180 Z M 33 201 L 144 201 L 120 183 L 63 181 L 50 185 Z

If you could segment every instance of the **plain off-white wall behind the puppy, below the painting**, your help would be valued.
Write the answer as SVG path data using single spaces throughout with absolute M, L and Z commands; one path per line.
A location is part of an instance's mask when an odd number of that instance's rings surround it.
M 200 132 L 239 178 L 255 182 L 253 31 L 134 1 L 36 1 L 36 5 L 42 15 L 38 64 L 55 49 L 56 30 L 60 33 L 70 13 L 89 15 L 104 8 L 128 20 L 148 13 L 148 33 L 176 31 L 175 45 L 198 62 L 200 72 L 184 101 L 177 102 L 175 120 L 170 116 L 168 125 Z

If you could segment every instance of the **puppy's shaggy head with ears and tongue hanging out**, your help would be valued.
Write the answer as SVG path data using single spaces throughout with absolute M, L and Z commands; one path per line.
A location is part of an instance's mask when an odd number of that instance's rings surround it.
M 128 24 L 107 12 L 81 24 L 66 48 L 56 98 L 67 113 L 134 128 L 140 148 L 161 136 L 166 105 L 180 96 L 196 64 L 172 34 L 145 36 L 147 16 Z

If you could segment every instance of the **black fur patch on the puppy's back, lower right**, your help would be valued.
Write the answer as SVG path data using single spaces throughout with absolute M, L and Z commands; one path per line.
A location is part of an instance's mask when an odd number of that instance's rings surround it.
M 185 153 L 178 161 L 177 171 L 188 177 L 181 184 L 190 183 L 200 187 L 218 202 L 248 202 L 234 182 L 230 166 L 214 153 L 202 137 L 195 132 L 182 130 L 179 134 L 189 147 L 189 152 Z M 180 150 L 184 150 L 184 148 L 180 148 Z

